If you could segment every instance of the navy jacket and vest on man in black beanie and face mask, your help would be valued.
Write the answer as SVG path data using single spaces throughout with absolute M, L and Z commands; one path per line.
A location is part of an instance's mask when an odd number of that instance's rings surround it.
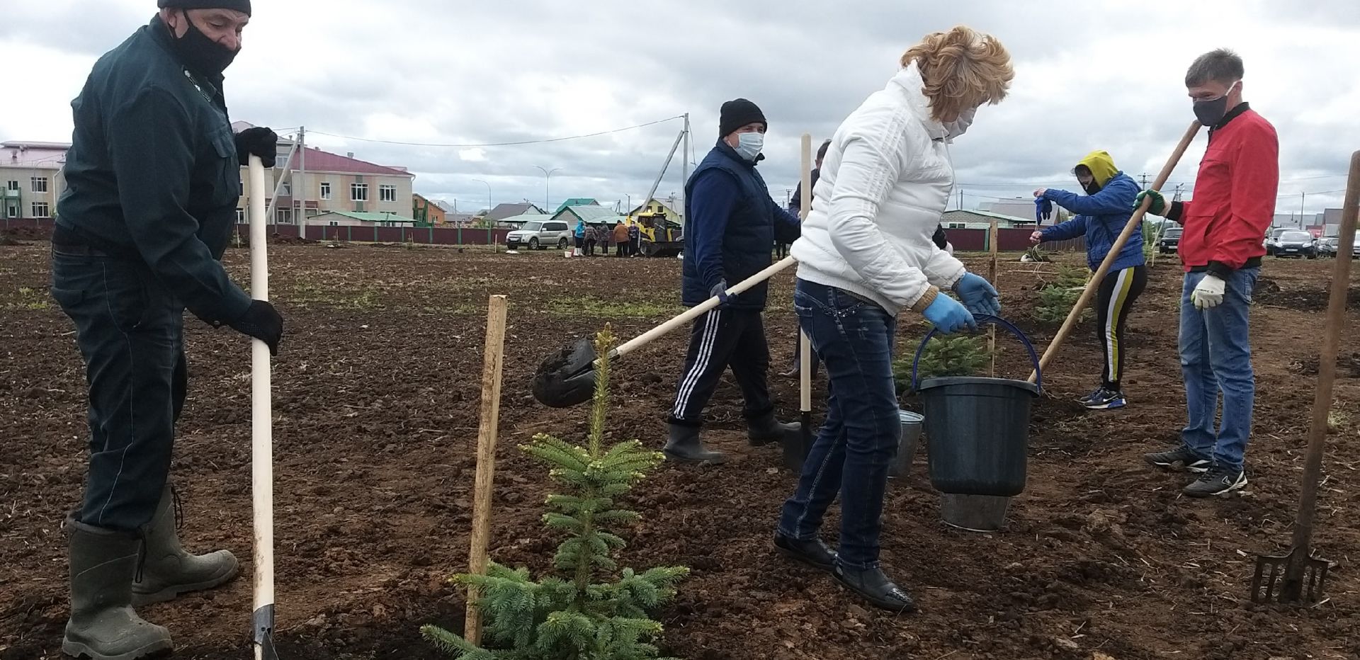
M 798 233 L 798 216 L 775 204 L 756 165 L 718 140 L 685 182 L 683 302 L 692 308 L 718 282 L 733 286 L 763 271 L 775 238 L 792 244 Z M 767 288 L 762 282 L 728 306 L 764 309 Z

